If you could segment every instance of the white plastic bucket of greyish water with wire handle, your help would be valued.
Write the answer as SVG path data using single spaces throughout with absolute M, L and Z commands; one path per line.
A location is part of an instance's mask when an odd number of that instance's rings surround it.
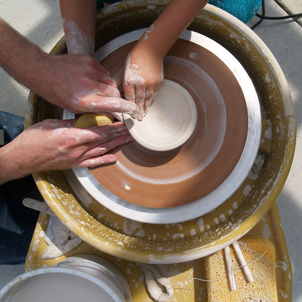
M 0 291 L 0 302 L 130 302 L 124 275 L 105 259 L 69 257 L 56 265 L 25 272 Z

